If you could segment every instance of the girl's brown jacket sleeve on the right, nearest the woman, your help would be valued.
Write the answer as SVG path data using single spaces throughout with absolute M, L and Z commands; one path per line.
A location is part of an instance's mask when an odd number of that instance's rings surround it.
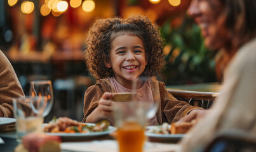
M 194 109 L 203 109 L 197 106 L 191 106 L 185 101 L 179 101 L 170 94 L 163 82 L 159 82 L 159 89 L 161 95 L 161 115 L 157 115 L 158 124 L 163 124 L 163 122 L 168 122 L 168 124 L 172 124 L 172 122 L 177 122 L 180 118 L 184 117 L 191 110 Z

